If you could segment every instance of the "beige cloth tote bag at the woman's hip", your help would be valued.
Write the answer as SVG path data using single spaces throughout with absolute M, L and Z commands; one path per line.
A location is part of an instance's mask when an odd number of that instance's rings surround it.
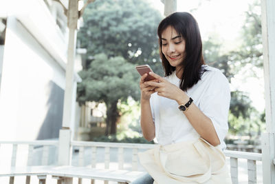
M 157 145 L 138 156 L 154 184 L 232 184 L 223 152 L 203 139 Z

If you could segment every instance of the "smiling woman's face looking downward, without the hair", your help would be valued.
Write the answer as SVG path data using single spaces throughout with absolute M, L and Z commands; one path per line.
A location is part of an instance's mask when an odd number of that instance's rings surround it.
M 162 32 L 162 53 L 176 70 L 181 68 L 185 56 L 185 40 L 172 26 Z

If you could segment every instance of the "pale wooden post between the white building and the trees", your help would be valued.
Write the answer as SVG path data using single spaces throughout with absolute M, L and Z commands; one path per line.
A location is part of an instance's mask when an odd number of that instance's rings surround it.
M 70 141 L 74 119 L 74 56 L 76 48 L 76 28 L 78 22 L 78 0 L 69 0 L 67 11 L 69 43 L 67 50 L 66 83 L 63 105 L 62 130 L 59 132 L 58 165 L 69 165 L 71 158 Z

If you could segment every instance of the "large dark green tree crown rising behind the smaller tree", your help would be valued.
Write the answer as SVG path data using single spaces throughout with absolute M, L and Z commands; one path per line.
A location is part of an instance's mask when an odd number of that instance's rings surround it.
M 162 74 L 157 25 L 162 16 L 144 0 L 104 0 L 91 3 L 78 31 L 81 48 L 87 48 L 87 63 L 95 54 L 121 56 L 130 63 L 149 64 Z

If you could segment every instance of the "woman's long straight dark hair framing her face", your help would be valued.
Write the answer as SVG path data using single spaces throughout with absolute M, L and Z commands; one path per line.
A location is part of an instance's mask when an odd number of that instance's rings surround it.
M 162 53 L 162 32 L 169 26 L 173 27 L 186 43 L 184 62 L 182 68 L 184 72 L 181 76 L 179 88 L 188 90 L 195 85 L 200 79 L 202 71 L 201 65 L 205 64 L 202 54 L 201 34 L 199 25 L 192 14 L 188 12 L 175 12 L 163 19 L 157 28 L 159 37 L 159 54 L 162 59 L 162 67 L 164 68 L 165 76 L 169 76 L 175 71 L 175 67 L 171 66 L 164 54 Z

